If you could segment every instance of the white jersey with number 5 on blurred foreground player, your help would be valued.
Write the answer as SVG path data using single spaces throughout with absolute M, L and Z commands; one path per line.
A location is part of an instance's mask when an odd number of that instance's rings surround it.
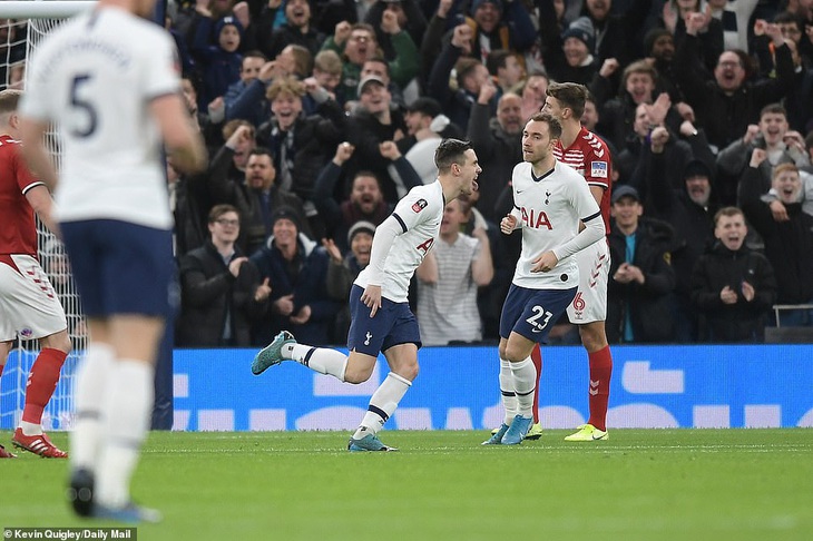
M 148 107 L 179 91 L 177 66 L 164 29 L 118 8 L 78 16 L 39 47 L 20 110 L 58 126 L 61 222 L 172 227 L 160 135 Z

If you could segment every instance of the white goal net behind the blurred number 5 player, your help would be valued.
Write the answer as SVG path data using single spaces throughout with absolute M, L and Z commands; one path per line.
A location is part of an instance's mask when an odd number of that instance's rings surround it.
M 87 9 L 92 2 L 0 2 L 0 88 L 25 90 L 26 60 L 37 49 L 48 32 L 67 17 Z M 37 6 L 35 6 L 37 4 Z M 49 6 L 50 4 L 50 6 Z M 75 10 L 66 4 L 76 4 Z M 82 6 L 84 4 L 84 6 Z M 27 17 L 33 17 L 27 19 Z M 46 18 L 58 17 L 58 18 Z M 49 134 L 48 146 L 57 165 L 59 145 L 56 134 Z M 39 258 L 59 296 L 68 317 L 68 334 L 74 351 L 62 366 L 61 377 L 42 414 L 45 430 L 67 430 L 72 424 L 74 375 L 78 357 L 85 350 L 87 335 L 85 318 L 79 305 L 70 273 L 70 263 L 62 244 L 41 224 L 39 229 Z M 39 353 L 37 341 L 20 337 L 6 363 L 0 378 L 0 429 L 14 429 L 22 415 L 28 373 Z

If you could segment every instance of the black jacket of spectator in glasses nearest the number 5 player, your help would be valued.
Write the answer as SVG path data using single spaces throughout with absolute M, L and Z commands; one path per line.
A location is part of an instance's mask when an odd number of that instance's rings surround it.
M 245 255 L 235 246 L 232 257 Z M 251 345 L 251 321 L 259 317 L 267 303 L 254 301 L 259 285 L 259 272 L 245 262 L 235 278 L 217 248 L 207 240 L 180 258 L 182 312 L 175 344 L 182 347 L 214 347 Z M 232 340 L 226 342 L 223 329 L 229 316 Z

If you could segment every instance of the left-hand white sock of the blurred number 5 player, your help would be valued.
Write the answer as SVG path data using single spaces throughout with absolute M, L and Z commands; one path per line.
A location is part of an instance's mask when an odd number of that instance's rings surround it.
M 94 471 L 99 454 L 102 401 L 115 366 L 115 352 L 109 344 L 91 342 L 77 371 L 74 386 L 76 417 L 70 432 L 70 462 L 74 470 Z

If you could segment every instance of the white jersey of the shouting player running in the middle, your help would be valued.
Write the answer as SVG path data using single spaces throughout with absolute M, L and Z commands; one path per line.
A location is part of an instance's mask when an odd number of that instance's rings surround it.
M 384 262 L 381 296 L 394 303 L 406 302 L 412 275 L 440 235 L 444 208 L 445 198 L 440 180 L 425 186 L 415 186 L 398 203 L 392 215 L 401 225 L 403 233 L 395 237 Z M 375 239 L 373 239 L 374 245 Z M 374 273 L 371 267 L 372 265 L 369 265 L 364 268 L 354 284 L 366 287 L 372 282 Z

